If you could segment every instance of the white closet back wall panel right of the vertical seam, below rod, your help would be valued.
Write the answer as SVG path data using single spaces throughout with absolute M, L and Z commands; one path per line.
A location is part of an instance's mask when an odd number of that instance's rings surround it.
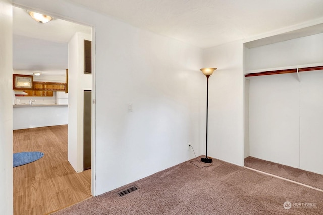
M 300 75 L 300 168 L 323 174 L 323 70 Z

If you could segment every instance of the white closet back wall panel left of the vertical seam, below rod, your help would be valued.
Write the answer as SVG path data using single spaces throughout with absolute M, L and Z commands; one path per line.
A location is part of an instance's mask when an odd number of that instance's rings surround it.
M 250 77 L 250 156 L 299 167 L 299 81 L 296 74 Z

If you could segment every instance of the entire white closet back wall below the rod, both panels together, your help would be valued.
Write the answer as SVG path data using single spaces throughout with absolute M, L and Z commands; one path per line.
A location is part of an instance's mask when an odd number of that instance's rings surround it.
M 250 156 L 323 174 L 323 71 L 250 77 Z

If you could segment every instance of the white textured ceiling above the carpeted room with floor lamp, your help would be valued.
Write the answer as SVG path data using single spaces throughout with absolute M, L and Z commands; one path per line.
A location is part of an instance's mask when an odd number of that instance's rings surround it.
M 323 18 L 322 0 L 67 0 L 207 48 Z

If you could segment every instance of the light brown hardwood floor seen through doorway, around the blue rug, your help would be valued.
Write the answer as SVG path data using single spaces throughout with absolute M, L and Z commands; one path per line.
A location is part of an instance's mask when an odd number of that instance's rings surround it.
M 15 167 L 14 214 L 47 214 L 91 197 L 91 170 L 76 173 L 67 161 L 67 125 L 13 131 L 13 152 L 44 156 Z

